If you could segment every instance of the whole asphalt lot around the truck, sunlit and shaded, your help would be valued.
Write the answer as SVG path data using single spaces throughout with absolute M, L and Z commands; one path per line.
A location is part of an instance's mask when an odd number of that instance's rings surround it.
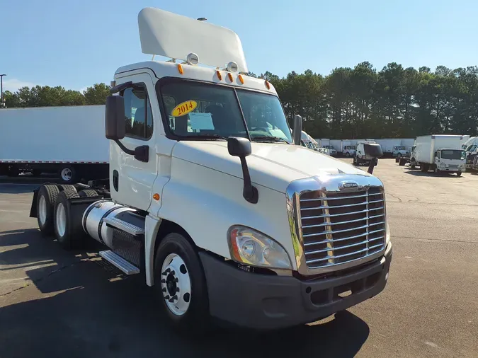
M 478 175 L 391 159 L 375 175 L 394 245 L 385 291 L 313 325 L 206 337 L 171 331 L 142 277 L 94 243 L 42 238 L 28 217 L 38 180 L 0 178 L 0 357 L 478 357 Z

